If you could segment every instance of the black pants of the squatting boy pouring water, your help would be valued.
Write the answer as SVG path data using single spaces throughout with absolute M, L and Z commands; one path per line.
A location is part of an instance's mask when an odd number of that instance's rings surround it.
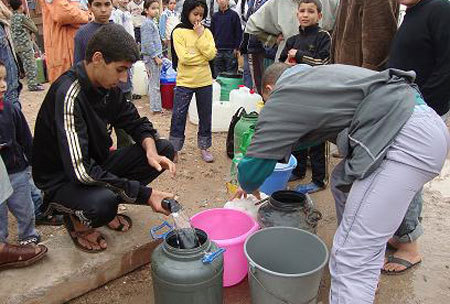
M 157 140 L 159 155 L 173 159 L 174 150 L 167 140 Z M 103 169 L 130 180 L 147 185 L 162 172 L 150 167 L 144 149 L 138 144 L 111 152 Z M 111 222 L 122 202 L 120 195 L 102 186 L 67 183 L 52 193 L 45 194 L 46 213 L 71 214 L 88 227 L 100 227 Z

